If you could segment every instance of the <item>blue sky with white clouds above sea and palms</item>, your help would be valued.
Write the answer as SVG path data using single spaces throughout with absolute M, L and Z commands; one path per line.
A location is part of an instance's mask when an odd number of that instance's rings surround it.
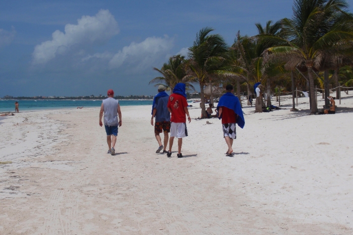
M 353 0 L 349 0 L 352 11 Z M 148 85 L 203 27 L 228 44 L 292 17 L 293 0 L 3 0 L 0 97 L 155 94 Z

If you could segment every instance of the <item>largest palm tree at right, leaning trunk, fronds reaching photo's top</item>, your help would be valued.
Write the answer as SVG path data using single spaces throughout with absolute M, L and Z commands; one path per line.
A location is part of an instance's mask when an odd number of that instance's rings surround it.
M 286 44 L 270 47 L 269 52 L 291 60 L 294 68 L 298 64 L 306 66 L 311 114 L 318 112 L 313 69 L 319 70 L 325 51 L 339 42 L 353 39 L 352 24 L 347 24 L 350 14 L 344 11 L 347 7 L 346 0 L 294 0 L 292 19 L 282 20 L 284 38 L 260 36 Z

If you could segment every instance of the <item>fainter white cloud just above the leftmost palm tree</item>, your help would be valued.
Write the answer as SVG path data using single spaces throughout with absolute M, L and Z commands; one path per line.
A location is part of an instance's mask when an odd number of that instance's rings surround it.
M 111 69 L 118 68 L 122 64 L 133 65 L 135 70 L 142 70 L 154 65 L 154 62 L 173 47 L 173 39 L 150 37 L 141 43 L 131 43 L 130 46 L 123 47 L 109 61 Z

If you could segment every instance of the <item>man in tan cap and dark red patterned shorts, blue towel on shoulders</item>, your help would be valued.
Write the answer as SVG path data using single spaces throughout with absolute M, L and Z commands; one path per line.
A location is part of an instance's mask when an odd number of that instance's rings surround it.
M 158 141 L 159 147 L 156 153 L 159 153 L 163 149 L 163 153 L 166 153 L 166 148 L 169 140 L 169 134 L 171 131 L 171 114 L 168 111 L 167 104 L 169 95 L 165 92 L 166 87 L 160 85 L 158 87 L 158 94 L 153 98 L 152 104 L 152 118 L 151 125 L 153 126 L 153 118 L 156 117 L 155 122 L 155 137 Z M 164 146 L 160 137 L 160 133 L 164 133 Z

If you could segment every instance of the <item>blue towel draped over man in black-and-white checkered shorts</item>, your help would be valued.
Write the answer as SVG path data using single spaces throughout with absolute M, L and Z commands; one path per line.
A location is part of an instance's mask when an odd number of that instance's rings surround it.
M 232 109 L 238 115 L 238 118 L 236 119 L 236 124 L 238 124 L 240 128 L 244 128 L 245 120 L 244 120 L 243 112 L 241 110 L 241 105 L 238 97 L 236 97 L 234 94 L 230 92 L 227 92 L 226 94 L 222 95 L 222 97 L 220 98 L 220 101 L 218 102 L 218 105 L 217 105 L 217 111 L 222 106 Z M 222 115 L 221 117 L 218 117 L 218 118 L 221 119 Z

